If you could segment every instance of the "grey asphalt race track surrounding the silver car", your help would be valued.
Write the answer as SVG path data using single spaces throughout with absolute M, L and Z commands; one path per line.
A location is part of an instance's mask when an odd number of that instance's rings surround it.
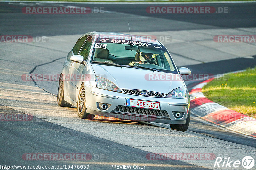
M 81 6 L 93 10 L 89 14 L 22 13 L 22 8 L 27 6 Z M 148 6 L 213 6 L 228 7 L 229 11 L 152 14 L 146 12 Z M 103 12 L 97 11 L 100 8 Z M 128 33 L 127 22 L 132 34 L 162 39 L 177 67 L 188 67 L 194 74 L 216 75 L 255 67 L 255 42 L 217 43 L 213 40 L 215 35 L 255 35 L 255 9 L 256 3 L 0 2 L 1 36 L 41 37 L 38 42 L 30 43 L 0 42 L 0 114 L 33 117 L 30 121 L 0 121 L 0 165 L 227 169 L 213 167 L 216 157 L 242 161 L 245 156 L 252 156 L 255 160 L 255 138 L 217 127 L 194 115 L 186 132 L 173 131 L 166 124 L 83 120 L 77 116 L 76 108 L 57 105 L 58 81 L 24 81 L 21 78 L 24 74 L 60 74 L 65 57 L 82 34 L 90 31 Z M 200 81 L 185 82 L 191 89 Z M 28 154 L 66 153 L 86 153 L 89 156 L 83 161 L 28 158 Z M 164 160 L 166 157 L 148 159 L 152 153 L 202 153 L 213 157 L 200 160 L 184 157 L 179 160 Z M 244 168 L 240 165 L 236 169 Z

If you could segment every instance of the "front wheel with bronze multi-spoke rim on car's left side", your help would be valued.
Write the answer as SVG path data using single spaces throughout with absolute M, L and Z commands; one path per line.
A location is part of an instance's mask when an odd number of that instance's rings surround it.
M 79 95 L 77 99 L 77 113 L 78 117 L 81 119 L 93 119 L 95 115 L 86 113 L 86 101 L 85 101 L 85 88 L 84 84 L 82 84 L 80 90 L 79 90 Z

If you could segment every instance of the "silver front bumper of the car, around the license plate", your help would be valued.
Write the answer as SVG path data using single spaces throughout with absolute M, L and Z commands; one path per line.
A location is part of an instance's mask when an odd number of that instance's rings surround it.
M 166 124 L 185 124 L 190 107 L 190 99 L 173 99 L 160 97 L 136 96 L 118 93 L 87 86 L 86 88 L 86 112 L 94 115 L 116 117 L 123 120 L 158 122 Z M 125 106 L 127 98 L 161 102 L 160 110 L 142 109 Z M 106 110 L 99 107 L 99 103 L 108 105 Z M 182 117 L 176 118 L 176 112 L 182 113 Z

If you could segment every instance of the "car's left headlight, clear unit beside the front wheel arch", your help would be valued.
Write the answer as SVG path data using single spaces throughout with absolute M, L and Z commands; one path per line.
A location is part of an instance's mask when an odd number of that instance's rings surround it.
M 121 90 L 114 83 L 107 79 L 104 79 L 102 77 L 95 77 L 95 80 L 97 88 L 121 92 Z

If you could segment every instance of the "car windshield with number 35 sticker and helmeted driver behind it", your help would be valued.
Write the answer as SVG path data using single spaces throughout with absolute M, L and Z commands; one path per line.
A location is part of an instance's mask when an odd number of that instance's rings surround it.
M 96 39 L 92 63 L 177 73 L 164 46 L 127 39 Z

